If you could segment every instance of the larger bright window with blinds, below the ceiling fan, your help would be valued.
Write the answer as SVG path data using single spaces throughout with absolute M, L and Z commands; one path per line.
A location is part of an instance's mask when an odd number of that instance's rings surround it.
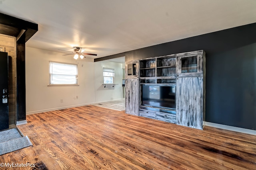
M 50 61 L 50 85 L 78 85 L 77 64 Z

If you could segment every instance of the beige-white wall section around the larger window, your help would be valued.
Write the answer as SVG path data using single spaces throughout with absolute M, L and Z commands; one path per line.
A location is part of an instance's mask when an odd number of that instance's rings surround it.
M 78 63 L 79 86 L 50 86 L 49 61 L 76 63 L 72 56 L 26 47 L 26 112 L 40 113 L 94 103 L 94 63 Z M 63 99 L 63 102 L 60 102 Z

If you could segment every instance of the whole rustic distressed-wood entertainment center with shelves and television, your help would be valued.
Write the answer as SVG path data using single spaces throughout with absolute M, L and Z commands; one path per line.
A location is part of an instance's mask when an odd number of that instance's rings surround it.
M 205 65 L 203 50 L 126 62 L 126 113 L 203 129 Z

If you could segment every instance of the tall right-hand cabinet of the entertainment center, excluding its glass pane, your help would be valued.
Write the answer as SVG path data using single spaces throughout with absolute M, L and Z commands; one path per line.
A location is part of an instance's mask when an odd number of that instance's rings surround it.
M 176 55 L 176 111 L 177 124 L 204 128 L 205 121 L 205 68 L 206 57 L 203 50 Z M 197 72 L 182 73 L 181 60 L 184 57 L 197 56 Z

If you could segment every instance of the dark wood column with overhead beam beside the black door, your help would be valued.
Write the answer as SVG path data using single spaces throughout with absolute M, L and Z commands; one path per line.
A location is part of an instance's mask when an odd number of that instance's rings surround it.
M 0 13 L 0 33 L 16 37 L 17 121 L 26 120 L 25 43 L 38 31 L 38 24 Z

